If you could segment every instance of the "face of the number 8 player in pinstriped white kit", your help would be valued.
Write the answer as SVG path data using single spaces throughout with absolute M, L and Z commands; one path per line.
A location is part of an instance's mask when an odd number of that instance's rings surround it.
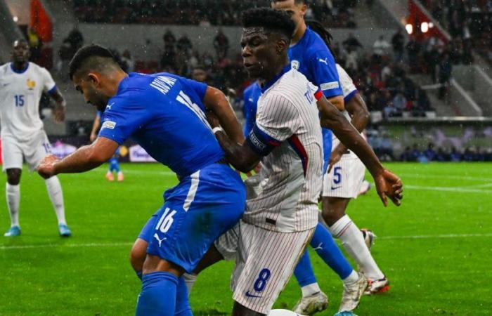
M 263 27 L 242 29 L 242 63 L 248 74 L 254 79 L 263 79 L 276 59 L 275 42 L 268 39 Z

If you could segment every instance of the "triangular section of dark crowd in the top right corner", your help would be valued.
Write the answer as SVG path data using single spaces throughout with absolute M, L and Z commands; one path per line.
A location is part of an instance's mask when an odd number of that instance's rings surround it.
M 492 0 L 422 0 L 465 53 L 473 47 L 492 61 Z

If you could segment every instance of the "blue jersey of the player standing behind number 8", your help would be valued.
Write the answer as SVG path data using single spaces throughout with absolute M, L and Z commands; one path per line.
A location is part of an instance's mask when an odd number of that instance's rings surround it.
M 326 98 L 343 96 L 335 58 L 325 41 L 309 27 L 302 39 L 290 46 L 289 60 L 292 68 L 318 86 Z M 332 132 L 329 129 L 323 129 L 323 147 L 326 169 L 332 150 Z

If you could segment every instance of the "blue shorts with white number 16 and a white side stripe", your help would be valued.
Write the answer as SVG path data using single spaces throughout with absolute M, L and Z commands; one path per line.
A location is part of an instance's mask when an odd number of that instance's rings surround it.
M 148 242 L 148 254 L 193 272 L 215 239 L 238 223 L 245 205 L 238 173 L 211 164 L 164 192 L 164 205 L 138 238 Z

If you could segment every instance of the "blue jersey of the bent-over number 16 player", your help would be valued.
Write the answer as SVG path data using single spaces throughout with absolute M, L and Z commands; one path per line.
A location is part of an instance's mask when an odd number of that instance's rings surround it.
M 103 112 L 99 136 L 131 137 L 150 156 L 188 176 L 224 158 L 205 117 L 206 84 L 174 74 L 131 73 Z

